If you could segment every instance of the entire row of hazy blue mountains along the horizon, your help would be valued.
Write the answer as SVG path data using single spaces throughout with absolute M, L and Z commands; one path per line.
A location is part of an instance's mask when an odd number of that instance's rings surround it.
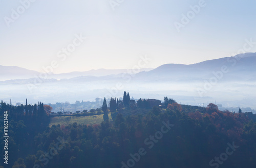
M 239 54 L 234 57 L 225 57 L 220 59 L 203 61 L 196 64 L 164 64 L 155 69 L 143 68 L 136 74 L 136 81 L 200 81 L 215 77 L 220 71 L 225 76 L 225 81 L 255 81 L 256 80 L 256 53 Z M 228 73 L 227 73 L 228 71 Z M 131 73 L 132 69 L 97 69 L 89 71 L 74 71 L 71 73 L 51 74 L 48 79 L 88 79 L 105 80 L 111 76 L 111 79 L 123 78 L 123 73 Z M 15 79 L 36 78 L 39 75 L 37 71 L 28 70 L 17 66 L 0 65 L 0 81 Z M 89 77 L 93 76 L 93 77 Z M 94 78 L 98 77 L 98 78 Z M 219 76 L 220 77 L 220 76 Z M 75 79 L 73 79 L 75 78 Z M 110 79 L 110 78 L 109 78 Z

